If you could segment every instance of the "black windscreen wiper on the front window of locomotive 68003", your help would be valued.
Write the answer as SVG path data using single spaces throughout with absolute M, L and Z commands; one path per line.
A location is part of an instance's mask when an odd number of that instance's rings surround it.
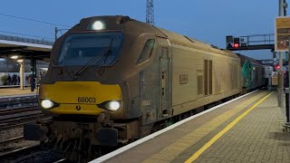
M 92 60 L 90 60 L 89 62 L 87 62 L 85 65 L 83 65 L 78 71 L 74 72 L 73 75 L 74 76 L 75 75 L 80 75 L 82 72 L 84 72 L 88 68 L 89 65 L 91 65 L 93 62 L 95 62 L 96 59 L 98 58 L 98 56 L 100 56 L 100 55 L 102 55 L 102 58 L 100 58 L 97 63 L 102 62 L 102 59 L 103 58 L 105 58 L 105 60 L 106 60 L 107 57 L 110 54 L 111 44 L 112 44 L 113 40 L 114 40 L 114 37 L 111 38 L 111 41 L 110 41 L 110 44 L 108 45 L 108 47 L 104 48 L 101 53 L 96 54 L 96 56 L 94 56 L 92 58 Z

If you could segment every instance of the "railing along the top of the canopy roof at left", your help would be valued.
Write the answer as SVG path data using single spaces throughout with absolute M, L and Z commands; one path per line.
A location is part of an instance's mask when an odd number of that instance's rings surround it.
M 4 35 L 4 34 L 0 34 L 0 40 L 22 42 L 22 43 L 53 45 L 53 42 L 46 41 L 46 40 L 31 39 L 31 38 L 17 37 L 17 36 Z

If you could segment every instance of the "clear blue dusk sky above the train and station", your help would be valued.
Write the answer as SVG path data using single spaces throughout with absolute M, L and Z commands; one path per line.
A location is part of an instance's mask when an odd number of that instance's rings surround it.
M 0 14 L 68 26 L 94 15 L 122 14 L 145 22 L 146 0 L 9 0 L 1 2 Z M 278 0 L 154 0 L 154 14 L 156 26 L 226 48 L 226 35 L 274 34 Z M 0 34 L 54 37 L 55 25 L 4 15 L 0 21 Z M 240 53 L 256 59 L 272 57 L 269 51 Z

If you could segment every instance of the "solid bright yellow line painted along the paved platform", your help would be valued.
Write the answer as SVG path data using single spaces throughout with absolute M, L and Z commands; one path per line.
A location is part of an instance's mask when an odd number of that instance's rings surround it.
M 225 129 L 222 129 L 218 134 L 210 139 L 201 149 L 198 149 L 198 151 L 193 154 L 188 160 L 185 161 L 185 163 L 190 163 L 196 160 L 205 150 L 207 150 L 213 143 L 215 143 L 220 137 L 222 137 L 229 129 L 232 129 L 239 120 L 243 119 L 251 110 L 254 110 L 257 105 L 259 105 L 262 101 L 265 101 L 267 97 L 269 97 L 273 92 L 270 92 L 266 95 L 263 99 L 260 101 L 257 101 L 250 109 L 246 110 L 243 114 L 237 117 L 236 120 L 232 121 Z

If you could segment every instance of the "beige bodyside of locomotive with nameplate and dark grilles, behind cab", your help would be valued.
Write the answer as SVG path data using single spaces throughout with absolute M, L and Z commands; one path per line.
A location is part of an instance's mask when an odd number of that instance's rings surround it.
M 238 58 L 173 45 L 172 72 L 173 115 L 240 92 Z

